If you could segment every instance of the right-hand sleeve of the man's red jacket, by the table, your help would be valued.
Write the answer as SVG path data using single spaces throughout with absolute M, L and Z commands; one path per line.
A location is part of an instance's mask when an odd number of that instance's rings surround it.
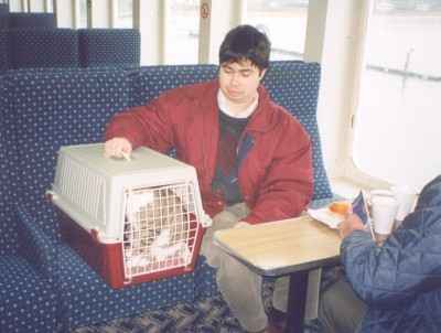
M 311 140 L 300 123 L 282 131 L 256 204 L 244 221 L 256 224 L 299 216 L 313 194 Z

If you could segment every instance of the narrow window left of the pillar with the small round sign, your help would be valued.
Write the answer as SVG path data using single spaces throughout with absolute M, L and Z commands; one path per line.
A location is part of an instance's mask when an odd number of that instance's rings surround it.
M 168 1 L 165 62 L 197 64 L 200 0 Z

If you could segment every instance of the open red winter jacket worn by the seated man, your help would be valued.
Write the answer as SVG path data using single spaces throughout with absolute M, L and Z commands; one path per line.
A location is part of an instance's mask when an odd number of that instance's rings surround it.
M 147 146 L 196 168 L 204 210 L 211 216 L 225 202 L 212 192 L 219 141 L 217 80 L 169 90 L 146 106 L 114 117 L 106 140 L 125 137 L 133 149 Z M 303 127 L 260 86 L 259 105 L 238 146 L 239 186 L 251 213 L 248 223 L 298 216 L 313 192 L 311 141 Z

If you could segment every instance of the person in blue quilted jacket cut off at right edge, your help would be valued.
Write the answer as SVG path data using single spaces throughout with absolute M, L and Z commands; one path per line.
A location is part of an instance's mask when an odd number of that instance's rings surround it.
M 441 332 L 441 175 L 381 246 L 356 215 L 340 233 L 345 275 L 322 294 L 323 332 Z

